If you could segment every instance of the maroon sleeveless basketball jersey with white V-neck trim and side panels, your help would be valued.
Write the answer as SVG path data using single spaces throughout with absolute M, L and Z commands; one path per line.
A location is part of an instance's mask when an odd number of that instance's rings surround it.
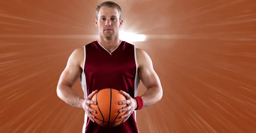
M 112 52 L 108 52 L 99 41 L 84 46 L 84 66 L 81 87 L 86 98 L 94 90 L 112 88 L 137 96 L 140 79 L 137 73 L 136 47 L 125 41 Z M 125 122 L 116 127 L 102 127 L 84 116 L 82 133 L 139 133 L 136 111 Z

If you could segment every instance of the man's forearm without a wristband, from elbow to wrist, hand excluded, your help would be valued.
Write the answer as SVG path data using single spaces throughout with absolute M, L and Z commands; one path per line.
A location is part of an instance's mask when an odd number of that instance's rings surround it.
M 81 108 L 81 101 L 84 100 L 84 98 L 76 94 L 76 92 L 65 83 L 61 83 L 57 86 L 57 95 L 65 103 L 77 108 Z

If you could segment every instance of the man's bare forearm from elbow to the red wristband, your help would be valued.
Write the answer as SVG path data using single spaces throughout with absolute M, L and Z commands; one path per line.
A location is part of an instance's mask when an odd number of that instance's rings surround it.
M 143 108 L 147 108 L 151 105 L 154 105 L 158 101 L 162 99 L 163 90 L 161 86 L 152 86 L 145 91 L 145 93 L 141 96 L 143 100 Z

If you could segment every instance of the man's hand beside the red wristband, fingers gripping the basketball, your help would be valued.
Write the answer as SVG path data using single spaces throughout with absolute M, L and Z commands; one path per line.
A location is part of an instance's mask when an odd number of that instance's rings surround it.
M 123 122 L 125 122 L 131 116 L 131 114 L 134 112 L 134 110 L 137 108 L 137 101 L 134 98 L 132 98 L 125 91 L 120 91 L 120 93 L 123 94 L 125 96 L 125 99 L 126 99 L 126 100 L 119 103 L 119 105 L 124 105 L 124 104 L 127 105 L 125 108 L 123 108 L 119 111 L 119 112 L 126 111 L 126 113 L 121 116 L 121 118 L 125 118 L 123 120 Z

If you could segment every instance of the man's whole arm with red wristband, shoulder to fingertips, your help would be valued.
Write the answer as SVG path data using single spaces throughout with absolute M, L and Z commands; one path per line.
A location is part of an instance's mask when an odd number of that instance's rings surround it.
M 120 109 L 120 112 L 126 111 L 121 118 L 124 118 L 125 122 L 134 110 L 141 108 L 149 107 L 163 97 L 163 89 L 157 76 L 157 73 L 154 71 L 151 58 L 148 56 L 145 51 L 137 48 L 137 63 L 138 63 L 138 75 L 143 85 L 146 87 L 145 93 L 140 97 L 131 97 L 125 91 L 120 91 L 126 98 L 126 100 L 120 102 L 120 105 L 127 104 L 128 106 Z

